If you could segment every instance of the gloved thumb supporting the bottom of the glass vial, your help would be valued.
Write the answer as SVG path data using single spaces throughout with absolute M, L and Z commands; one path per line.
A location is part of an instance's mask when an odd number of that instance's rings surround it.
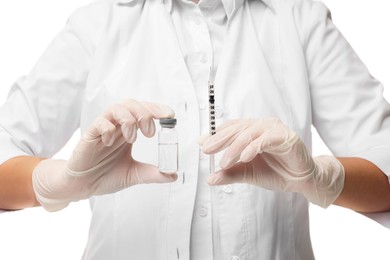
M 130 183 L 169 183 L 177 180 L 176 173 L 161 173 L 154 165 L 133 161 L 129 178 Z

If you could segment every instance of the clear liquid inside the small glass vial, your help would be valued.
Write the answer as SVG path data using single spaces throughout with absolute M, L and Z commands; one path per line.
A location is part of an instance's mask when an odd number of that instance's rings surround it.
M 160 172 L 175 173 L 178 170 L 178 144 L 160 143 L 158 146 L 158 165 Z

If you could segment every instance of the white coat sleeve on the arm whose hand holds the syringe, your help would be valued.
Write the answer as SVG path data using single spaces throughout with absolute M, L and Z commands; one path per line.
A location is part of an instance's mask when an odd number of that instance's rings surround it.
M 304 38 L 313 125 L 335 156 L 360 157 L 390 175 L 390 105 L 332 23 L 328 9 L 311 2 Z

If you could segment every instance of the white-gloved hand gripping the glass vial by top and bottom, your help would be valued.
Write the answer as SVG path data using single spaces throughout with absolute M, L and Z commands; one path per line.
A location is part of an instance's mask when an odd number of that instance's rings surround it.
M 176 174 L 131 156 L 138 128 L 146 137 L 155 133 L 153 119 L 170 118 L 167 106 L 135 100 L 114 105 L 98 117 L 78 142 L 68 161 L 47 159 L 33 171 L 37 200 L 48 211 L 93 195 L 114 193 L 140 183 L 166 183 Z

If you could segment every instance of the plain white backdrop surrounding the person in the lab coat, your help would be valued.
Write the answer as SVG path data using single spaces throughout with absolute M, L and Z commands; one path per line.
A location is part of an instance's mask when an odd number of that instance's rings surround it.
M 90 0 L 2 0 L 0 2 L 0 104 L 15 79 L 27 74 L 68 16 Z M 387 0 L 324 0 L 333 20 L 390 100 L 390 4 Z M 67 158 L 77 141 L 56 155 Z M 390 138 L 390 135 L 389 135 Z M 329 153 L 318 136 L 314 154 Z M 1 148 L 0 148 L 1 149 Z M 312 243 L 318 260 L 390 259 L 390 229 L 357 213 L 312 206 Z M 80 259 L 89 228 L 87 202 L 57 213 L 41 208 L 0 215 L 0 260 Z M 109 259 L 107 259 L 109 260 Z

